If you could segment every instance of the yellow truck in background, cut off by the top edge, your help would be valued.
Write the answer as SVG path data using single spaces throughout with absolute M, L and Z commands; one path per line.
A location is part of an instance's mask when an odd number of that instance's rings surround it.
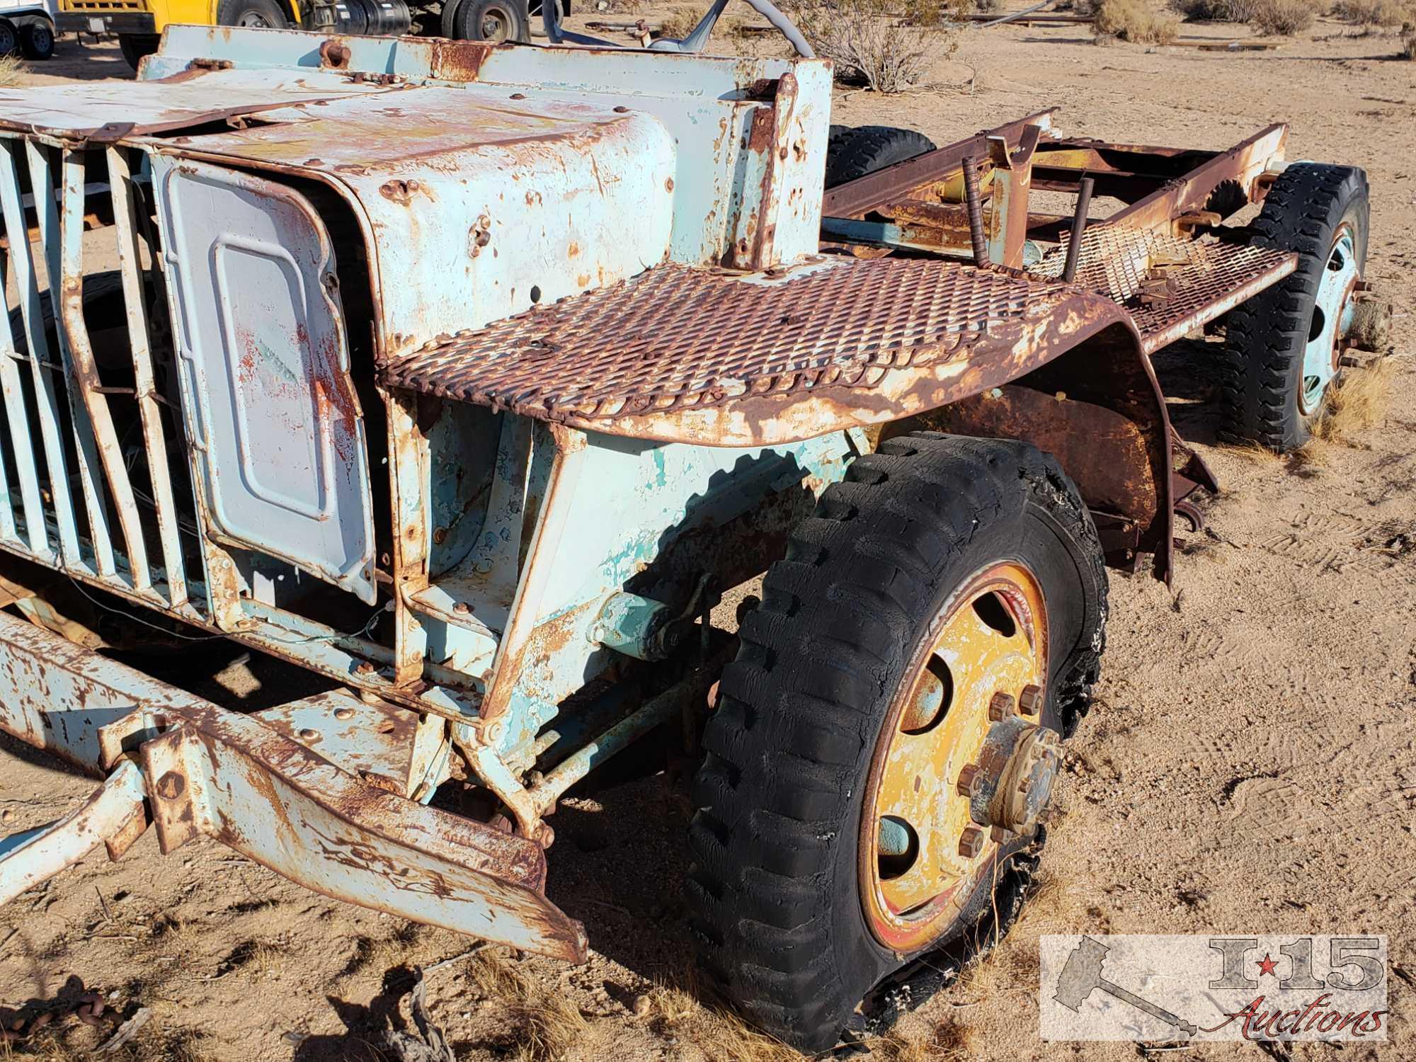
M 569 0 L 556 0 L 569 13 Z M 302 28 L 370 37 L 419 34 L 460 41 L 527 41 L 541 0 L 58 0 L 59 33 L 116 34 L 137 69 L 171 24 Z

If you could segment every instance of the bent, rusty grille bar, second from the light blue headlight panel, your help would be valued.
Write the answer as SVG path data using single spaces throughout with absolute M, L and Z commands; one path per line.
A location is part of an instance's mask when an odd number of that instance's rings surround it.
M 103 463 L 103 479 L 108 480 L 109 494 L 113 504 L 118 506 L 118 523 L 127 547 L 127 565 L 133 589 L 144 592 L 152 588 L 153 582 L 147 571 L 147 544 L 143 541 L 137 501 L 133 498 L 133 484 L 127 479 L 127 466 L 123 463 L 123 447 L 113 429 L 108 395 L 96 389 L 101 387 L 98 362 L 93 360 L 93 346 L 84 320 L 84 156 L 65 150 L 62 173 L 64 214 L 59 225 L 62 282 L 58 286 L 62 319 L 58 331 L 65 337 L 64 343 L 69 348 L 71 382 L 79 392 L 84 408 L 88 409 L 93 442 L 98 445 L 98 456 Z M 52 279 L 50 290 L 54 292 Z M 75 418 L 76 428 L 78 419 Z

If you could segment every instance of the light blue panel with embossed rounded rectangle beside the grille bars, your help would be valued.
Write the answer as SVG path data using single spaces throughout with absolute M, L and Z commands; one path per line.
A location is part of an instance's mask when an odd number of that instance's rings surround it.
M 164 156 L 153 177 L 208 532 L 372 605 L 364 413 L 323 222 L 258 177 Z

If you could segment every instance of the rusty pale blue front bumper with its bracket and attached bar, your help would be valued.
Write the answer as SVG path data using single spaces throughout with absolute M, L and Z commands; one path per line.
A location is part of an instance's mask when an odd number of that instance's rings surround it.
M 84 809 L 0 838 L 0 902 L 156 823 L 163 854 L 212 837 L 326 896 L 582 961 L 539 845 L 411 799 L 439 777 L 432 724 L 344 691 L 227 711 L 0 613 L 0 729 L 106 776 Z

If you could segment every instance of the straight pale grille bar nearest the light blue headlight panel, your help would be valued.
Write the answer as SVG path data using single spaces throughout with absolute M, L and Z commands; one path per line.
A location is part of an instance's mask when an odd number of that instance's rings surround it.
M 167 439 L 153 377 L 152 344 L 143 296 L 142 259 L 133 228 L 133 174 L 120 147 L 108 149 L 108 180 L 113 200 L 113 227 L 118 232 L 118 259 L 123 269 L 123 304 L 127 309 L 127 337 L 133 350 L 133 384 L 137 411 L 143 421 L 143 445 L 147 450 L 147 476 L 153 484 L 157 508 L 157 532 L 167 568 L 169 603 L 187 605 L 187 578 L 183 569 L 181 542 L 177 537 L 177 506 L 173 501 L 171 473 L 167 467 Z

